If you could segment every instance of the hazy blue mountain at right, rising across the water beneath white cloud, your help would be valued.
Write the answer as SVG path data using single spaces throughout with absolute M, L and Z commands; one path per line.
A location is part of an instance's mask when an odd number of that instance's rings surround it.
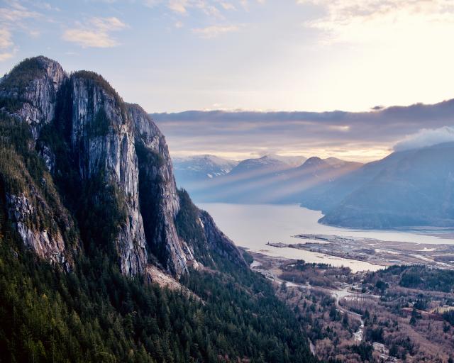
M 321 223 L 352 228 L 454 225 L 454 143 L 393 152 L 311 191 Z

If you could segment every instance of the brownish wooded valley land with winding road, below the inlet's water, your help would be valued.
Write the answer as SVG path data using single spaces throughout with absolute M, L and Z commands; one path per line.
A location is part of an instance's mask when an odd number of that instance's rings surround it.
M 453 359 L 454 272 L 392 266 L 352 273 L 250 254 L 252 269 L 273 281 L 277 296 L 299 316 L 316 357 L 352 363 Z

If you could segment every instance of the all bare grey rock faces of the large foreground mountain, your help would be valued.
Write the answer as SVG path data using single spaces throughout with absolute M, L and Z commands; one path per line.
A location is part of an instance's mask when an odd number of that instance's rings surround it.
M 0 84 L 0 102 L 1 115 L 30 125 L 27 152 L 40 155 L 47 167 L 42 173 L 50 172 L 60 180 L 57 189 L 63 193 L 57 195 L 54 188 L 52 195 L 58 203 L 50 203 L 48 194 L 42 196 L 32 183 L 23 194 L 5 190 L 9 219 L 25 245 L 51 262 L 67 264 L 69 251 L 82 245 L 96 247 L 99 240 L 107 240 L 114 246 L 121 272 L 127 275 L 142 274 L 150 262 L 175 277 L 189 266 L 201 266 L 193 242 L 177 233 L 179 196 L 165 138 L 140 106 L 125 104 L 98 74 L 81 71 L 67 76 L 57 62 L 45 57 L 16 66 Z M 62 152 L 65 160 L 61 160 Z M 1 171 L 8 174 L 8 170 L 6 165 Z M 74 179 L 77 191 L 67 191 L 62 176 Z M 71 212 L 60 206 L 60 199 L 72 206 Z M 52 233 L 35 223 L 38 207 L 52 211 L 56 226 Z M 56 218 L 56 210 L 69 222 Z M 82 230 L 84 242 L 79 240 L 78 247 L 69 249 L 74 245 L 74 239 L 72 244 L 67 241 L 73 215 L 82 229 L 89 226 L 95 233 Z M 205 240 L 217 241 L 206 247 L 228 259 L 242 260 L 233 243 L 219 242 L 226 238 L 211 218 L 204 215 L 204 220 Z

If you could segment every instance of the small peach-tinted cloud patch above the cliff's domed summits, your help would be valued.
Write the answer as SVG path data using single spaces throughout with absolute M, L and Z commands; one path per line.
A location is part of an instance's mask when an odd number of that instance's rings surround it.
M 126 28 L 126 24 L 115 17 L 90 18 L 89 21 L 77 28 L 65 30 L 63 40 L 77 43 L 82 48 L 112 48 L 119 45 L 118 41 L 111 37 L 111 32 Z

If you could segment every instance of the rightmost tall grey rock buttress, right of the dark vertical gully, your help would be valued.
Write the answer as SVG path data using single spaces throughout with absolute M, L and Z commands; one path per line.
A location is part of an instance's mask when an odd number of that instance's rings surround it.
M 134 123 L 139 156 L 140 210 L 145 219 L 145 235 L 150 250 L 167 271 L 179 276 L 187 272 L 187 262 L 192 263 L 195 258 L 175 228 L 179 199 L 169 150 L 164 136 L 140 106 L 128 105 L 128 113 Z

